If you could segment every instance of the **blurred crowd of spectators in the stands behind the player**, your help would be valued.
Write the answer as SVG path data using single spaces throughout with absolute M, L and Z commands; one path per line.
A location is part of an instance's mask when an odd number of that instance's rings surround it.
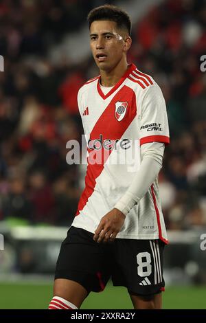
M 82 175 L 67 164 L 66 144 L 81 140 L 76 96 L 98 69 L 91 57 L 73 65 L 67 57 L 52 63 L 48 53 L 103 3 L 0 1 L 0 221 L 69 225 L 73 219 Z M 206 225 L 205 25 L 204 0 L 162 1 L 133 25 L 128 53 L 128 63 L 158 82 L 168 108 L 171 144 L 159 187 L 170 230 Z

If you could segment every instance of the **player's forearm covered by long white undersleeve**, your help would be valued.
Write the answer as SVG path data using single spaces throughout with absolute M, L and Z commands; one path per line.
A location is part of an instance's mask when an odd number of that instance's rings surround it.
M 126 215 L 140 199 L 148 192 L 162 167 L 164 145 L 160 143 L 147 144 L 142 149 L 142 161 L 128 190 L 114 208 Z

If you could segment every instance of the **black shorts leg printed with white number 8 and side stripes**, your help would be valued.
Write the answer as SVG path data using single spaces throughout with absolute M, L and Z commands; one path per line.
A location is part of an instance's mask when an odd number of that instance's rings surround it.
M 142 297 L 156 295 L 163 290 L 161 241 L 116 239 L 115 257 L 119 267 L 113 274 L 115 286 L 125 286 L 128 293 Z

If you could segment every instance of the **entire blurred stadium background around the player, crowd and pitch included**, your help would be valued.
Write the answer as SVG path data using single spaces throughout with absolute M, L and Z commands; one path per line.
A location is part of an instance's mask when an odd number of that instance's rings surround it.
M 76 95 L 98 74 L 86 16 L 104 3 L 130 14 L 128 62 L 155 78 L 167 103 L 171 144 L 159 175 L 170 240 L 164 308 L 206 308 L 205 1 L 3 0 L 0 309 L 44 309 L 52 297 L 60 241 L 76 212 L 85 170 L 67 165 L 66 143 L 81 140 Z M 82 306 L 131 307 L 126 290 L 110 284 Z

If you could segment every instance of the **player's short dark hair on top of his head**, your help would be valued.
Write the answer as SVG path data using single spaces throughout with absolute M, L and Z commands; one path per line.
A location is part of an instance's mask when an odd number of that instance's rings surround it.
M 132 23 L 128 13 L 115 5 L 100 5 L 89 12 L 87 16 L 89 28 L 93 21 L 100 20 L 115 21 L 119 29 L 126 29 L 129 35 L 131 33 Z

